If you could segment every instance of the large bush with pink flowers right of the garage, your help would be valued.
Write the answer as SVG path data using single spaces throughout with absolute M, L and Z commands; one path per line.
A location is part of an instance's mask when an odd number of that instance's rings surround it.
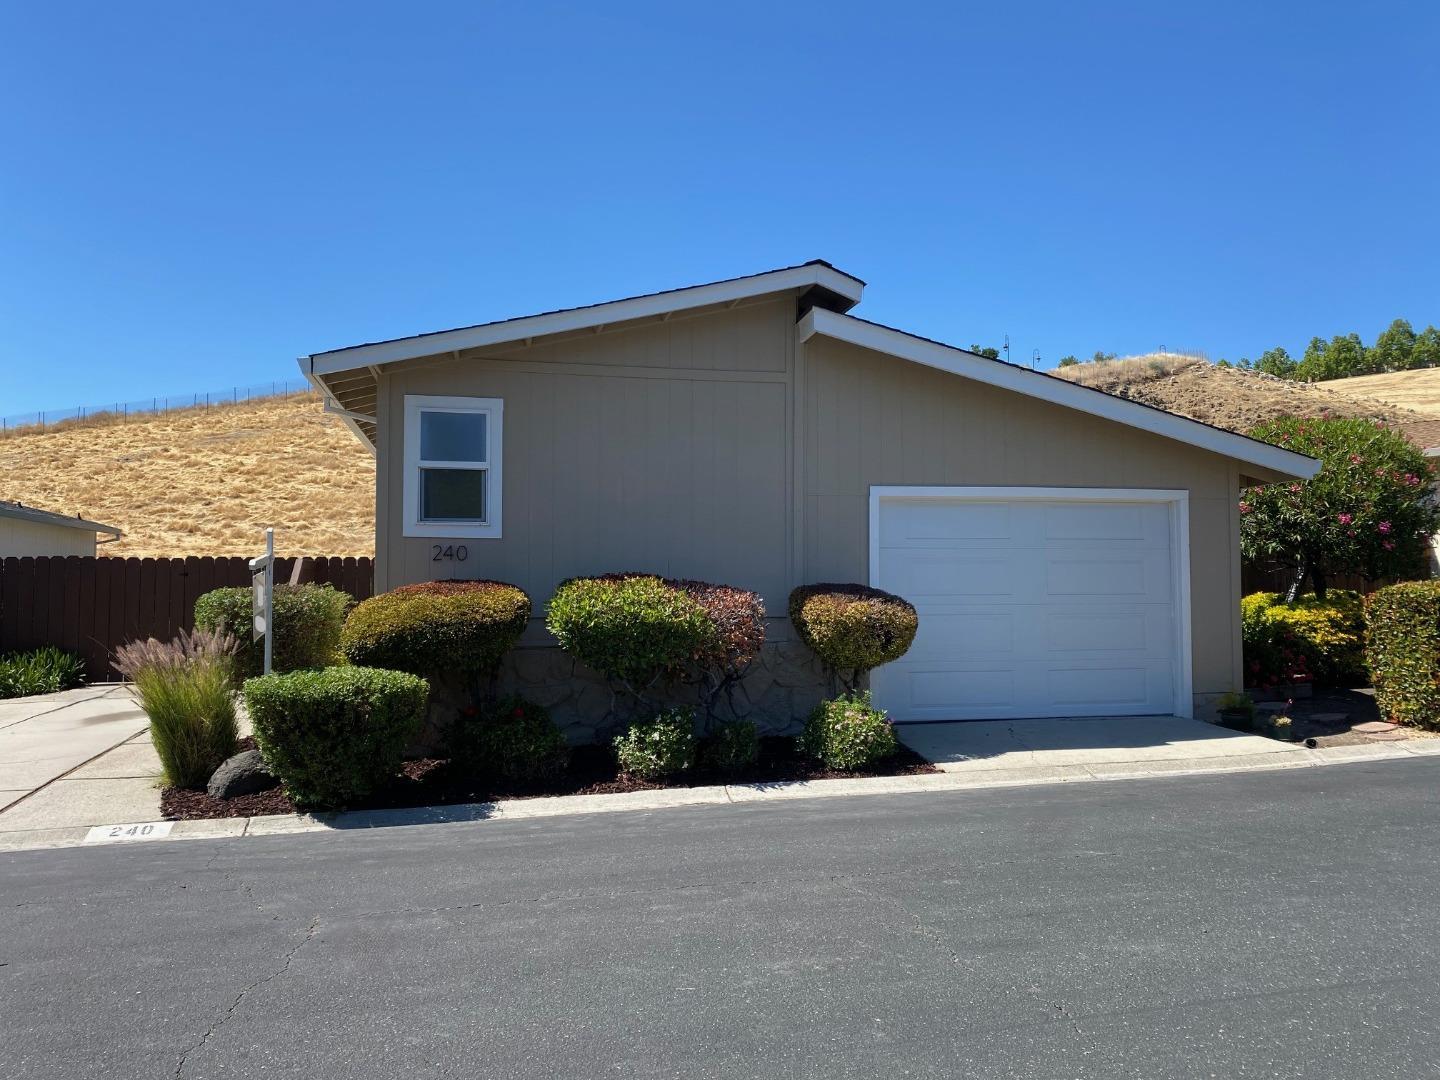
M 1319 599 L 1339 573 L 1426 575 L 1440 510 L 1430 500 L 1428 459 L 1401 435 L 1369 420 L 1289 416 L 1251 436 L 1319 458 L 1320 471 L 1302 484 L 1240 492 L 1246 559 L 1293 567 L 1292 593 L 1308 580 Z

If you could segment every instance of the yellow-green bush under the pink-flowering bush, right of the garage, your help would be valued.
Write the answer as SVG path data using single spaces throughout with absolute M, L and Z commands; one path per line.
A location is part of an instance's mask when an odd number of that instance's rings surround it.
M 1313 678 L 1328 687 L 1358 687 L 1365 670 L 1365 600 L 1331 589 L 1283 603 L 1280 593 L 1257 592 L 1240 600 L 1246 685 L 1273 687 Z

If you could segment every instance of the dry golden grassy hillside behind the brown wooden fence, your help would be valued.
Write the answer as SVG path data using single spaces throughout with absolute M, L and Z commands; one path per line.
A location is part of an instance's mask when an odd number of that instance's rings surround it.
M 111 556 L 373 554 L 374 458 L 314 395 L 0 439 L 0 498 L 124 530 Z

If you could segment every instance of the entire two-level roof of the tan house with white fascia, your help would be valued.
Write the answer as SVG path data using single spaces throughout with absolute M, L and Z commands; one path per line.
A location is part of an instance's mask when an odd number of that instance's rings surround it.
M 989 360 L 955 346 L 847 315 L 845 312 L 860 302 L 864 282 L 819 259 L 708 285 L 693 285 L 606 304 L 550 311 L 541 315 L 526 315 L 458 330 L 336 348 L 301 357 L 300 369 L 328 399 L 325 408 L 338 413 L 373 451 L 374 408 L 382 364 L 517 341 L 530 344 L 539 337 L 582 330 L 599 331 L 618 324 L 662 321 L 680 311 L 724 310 L 747 300 L 789 291 L 802 298 L 804 317 L 799 324 L 802 341 L 822 334 L 903 360 L 962 374 L 991 386 L 1103 416 L 1117 423 L 1223 454 L 1272 474 L 1261 475 L 1259 480 L 1309 478 L 1319 471 L 1319 462 L 1313 458 L 1272 446 L 1267 442 L 1212 428 L 1200 420 L 1130 402 L 1103 390 L 1077 386 L 1043 372 L 1031 372 L 1002 360 Z

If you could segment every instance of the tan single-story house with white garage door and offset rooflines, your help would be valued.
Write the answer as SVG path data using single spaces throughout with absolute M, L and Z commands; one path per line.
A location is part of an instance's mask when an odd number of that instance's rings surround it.
M 302 357 L 377 458 L 376 589 L 523 586 L 505 680 L 567 723 L 606 698 L 544 603 L 613 570 L 759 592 L 773 723 L 822 693 L 785 619 L 808 582 L 919 609 L 873 677 L 896 720 L 1192 716 L 1238 688 L 1240 487 L 1318 462 L 857 318 L 863 289 L 816 261 Z

